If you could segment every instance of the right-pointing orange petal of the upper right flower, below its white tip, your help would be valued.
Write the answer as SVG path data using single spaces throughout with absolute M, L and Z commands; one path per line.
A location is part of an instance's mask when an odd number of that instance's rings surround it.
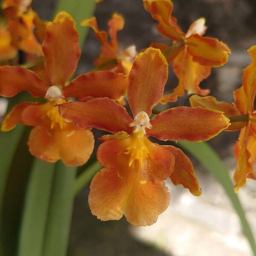
M 193 61 L 207 67 L 219 67 L 228 59 L 230 49 L 215 38 L 191 35 L 187 40 L 187 50 L 193 56 Z

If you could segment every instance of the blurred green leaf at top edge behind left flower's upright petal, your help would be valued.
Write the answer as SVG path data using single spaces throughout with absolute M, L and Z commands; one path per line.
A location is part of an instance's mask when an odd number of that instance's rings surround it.
M 80 26 L 80 22 L 93 16 L 95 0 L 60 0 L 56 7 L 55 14 L 61 11 L 70 13 L 76 20 L 76 29 L 79 32 L 79 45 L 84 44 L 88 28 Z

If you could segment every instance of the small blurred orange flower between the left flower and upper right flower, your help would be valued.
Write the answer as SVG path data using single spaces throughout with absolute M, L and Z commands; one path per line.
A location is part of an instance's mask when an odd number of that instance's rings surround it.
M 124 27 L 122 15 L 114 13 L 108 21 L 109 31 L 99 30 L 96 17 L 83 20 L 81 26 L 89 26 L 95 32 L 97 40 L 102 43 L 102 52 L 95 61 L 96 70 L 111 70 L 128 75 L 132 62 L 137 54 L 135 45 L 120 50 L 117 41 L 117 32 Z M 108 35 L 111 38 L 108 41 Z

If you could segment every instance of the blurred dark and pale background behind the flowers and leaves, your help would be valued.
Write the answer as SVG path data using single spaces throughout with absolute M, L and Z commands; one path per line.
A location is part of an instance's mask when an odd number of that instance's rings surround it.
M 173 16 L 184 31 L 194 20 L 205 17 L 206 35 L 218 38 L 230 47 L 232 54 L 228 63 L 212 68 L 212 74 L 201 87 L 210 88 L 211 95 L 218 100 L 233 102 L 233 90 L 241 85 L 242 70 L 250 63 L 246 50 L 256 44 L 256 1 L 173 0 L 173 3 Z M 51 19 L 55 4 L 55 0 L 33 0 L 33 9 L 41 18 Z M 95 15 L 100 29 L 107 29 L 107 21 L 113 12 L 125 17 L 125 27 L 118 34 L 121 48 L 135 44 L 140 50 L 151 42 L 168 43 L 156 31 L 156 22 L 143 9 L 142 0 L 104 0 L 97 4 Z M 77 73 L 90 71 L 99 52 L 100 44 L 90 30 Z M 177 79 L 170 68 L 166 91 L 171 92 L 175 86 Z M 184 96 L 165 108 L 189 105 L 188 98 Z M 237 132 L 223 132 L 209 142 L 224 159 L 230 175 L 236 166 L 233 145 L 237 137 Z M 192 158 L 192 162 L 203 194 L 194 197 L 188 190 L 168 183 L 170 206 L 150 227 L 132 227 L 125 218 L 99 221 L 91 215 L 87 204 L 89 186 L 84 188 L 74 205 L 68 256 L 250 255 L 239 218 L 222 187 L 195 159 Z M 238 196 L 256 236 L 255 181 L 248 180 Z

